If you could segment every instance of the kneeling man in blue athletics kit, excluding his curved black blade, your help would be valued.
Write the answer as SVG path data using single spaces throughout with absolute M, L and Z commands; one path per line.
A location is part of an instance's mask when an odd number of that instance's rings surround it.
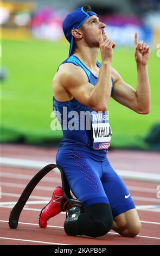
M 63 169 L 75 197 L 84 209 L 67 210 L 65 231 L 68 235 L 103 236 L 111 229 L 123 236 L 136 236 L 141 228 L 129 190 L 107 160 L 111 129 L 107 105 L 110 96 L 139 114 L 150 111 L 150 84 L 147 63 L 149 46 L 138 42 L 135 34 L 137 88 L 123 81 L 112 68 L 114 42 L 105 34 L 91 7 L 76 9 L 63 21 L 63 32 L 70 42 L 69 58 L 57 70 L 53 80 L 53 107 L 61 114 L 61 125 L 71 121 L 68 113 L 91 113 L 91 129 L 63 129 L 56 163 Z M 98 49 L 101 64 L 97 61 Z M 63 116 L 67 107 L 67 118 Z M 100 114 L 99 114 L 100 112 Z M 97 121 L 95 121 L 97 120 Z M 67 126 L 68 127 L 68 126 Z M 66 211 L 68 202 L 57 187 L 52 200 L 40 214 L 41 228 L 49 218 Z

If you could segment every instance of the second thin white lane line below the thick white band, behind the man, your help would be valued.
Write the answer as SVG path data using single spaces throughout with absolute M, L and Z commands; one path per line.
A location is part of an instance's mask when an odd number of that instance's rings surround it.
M 1 186 L 25 188 L 27 186 L 27 184 L 18 184 L 18 183 L 12 183 L 12 182 L 1 182 Z M 34 190 L 52 191 L 53 192 L 55 190 L 55 187 L 37 185 L 34 188 Z M 157 199 L 157 198 L 136 197 L 136 196 L 132 196 L 132 198 L 133 198 L 133 200 L 144 201 L 144 202 L 154 202 L 154 203 L 159 203 L 160 202 L 160 199 Z

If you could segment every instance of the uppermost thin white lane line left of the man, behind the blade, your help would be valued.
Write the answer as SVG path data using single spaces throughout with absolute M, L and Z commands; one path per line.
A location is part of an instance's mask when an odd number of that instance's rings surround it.
M 51 173 L 54 173 L 54 172 L 51 171 Z M 11 179 L 19 179 L 19 180 L 31 180 L 34 177 L 34 175 L 1 172 L 1 177 L 11 178 Z M 62 183 L 61 178 L 53 178 L 53 177 L 50 177 L 50 178 L 49 177 L 44 177 L 42 179 L 42 181 L 47 181 L 47 182 L 52 182 L 52 183 L 60 182 L 60 184 Z

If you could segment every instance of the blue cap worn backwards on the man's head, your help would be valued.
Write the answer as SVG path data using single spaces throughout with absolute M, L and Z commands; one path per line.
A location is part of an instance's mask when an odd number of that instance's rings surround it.
M 63 21 L 63 32 L 68 42 L 70 42 L 69 56 L 73 54 L 73 35 L 72 29 L 78 29 L 82 23 L 84 23 L 89 17 L 96 15 L 93 11 L 84 11 L 83 7 L 76 9 L 72 13 L 68 14 L 66 19 Z

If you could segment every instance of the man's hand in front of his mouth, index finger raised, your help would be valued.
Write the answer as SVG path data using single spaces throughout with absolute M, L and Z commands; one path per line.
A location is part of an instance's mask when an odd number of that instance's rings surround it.
M 103 34 L 102 34 L 101 30 L 100 30 L 100 34 L 99 34 L 99 47 L 100 47 L 102 62 L 105 60 L 112 62 L 113 48 L 115 47 L 115 44 L 109 38 L 106 38 L 106 40 L 104 41 Z

